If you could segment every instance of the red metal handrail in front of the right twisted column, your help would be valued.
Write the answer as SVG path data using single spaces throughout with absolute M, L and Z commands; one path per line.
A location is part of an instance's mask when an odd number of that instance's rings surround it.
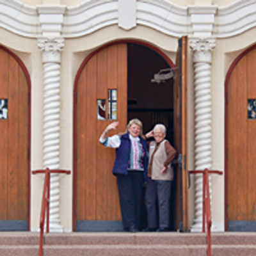
M 211 198 L 210 198 L 210 188 L 209 188 L 209 173 L 215 173 L 222 175 L 223 172 L 220 171 L 209 171 L 207 168 L 204 170 L 189 171 L 191 174 L 203 174 L 203 232 L 205 233 L 205 218 L 207 226 L 207 255 L 211 256 L 211 227 L 212 227 L 212 217 L 211 217 Z M 206 195 L 205 195 L 206 194 Z

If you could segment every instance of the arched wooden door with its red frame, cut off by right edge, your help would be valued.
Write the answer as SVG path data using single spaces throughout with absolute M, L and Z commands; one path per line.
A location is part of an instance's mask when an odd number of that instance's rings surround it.
M 226 230 L 254 231 L 256 45 L 232 63 L 225 81 Z

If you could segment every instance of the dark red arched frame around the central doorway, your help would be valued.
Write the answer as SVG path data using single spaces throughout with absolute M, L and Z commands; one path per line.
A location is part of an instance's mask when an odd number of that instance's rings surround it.
M 170 67 L 175 68 L 174 63 L 172 62 L 172 60 L 170 60 L 170 58 L 164 54 L 164 52 L 160 51 L 159 49 L 157 49 L 157 47 L 154 47 L 153 45 L 150 45 L 148 43 L 145 42 L 141 42 L 140 40 L 116 40 L 113 42 L 110 42 L 108 44 L 104 44 L 101 47 L 99 47 L 98 49 L 96 49 L 95 51 L 91 52 L 83 61 L 83 63 L 80 65 L 77 74 L 76 74 L 76 78 L 74 81 L 74 93 L 73 93 L 73 205 L 72 205 L 72 230 L 76 231 L 76 199 L 77 199 L 77 195 L 76 195 L 76 188 L 77 188 L 77 184 L 76 184 L 76 179 L 77 179 L 77 174 L 76 174 L 76 129 L 77 129 L 77 118 L 76 118 L 76 114 L 77 114 L 77 109 L 76 109 L 76 99 L 77 99 L 77 84 L 79 81 L 79 77 L 81 76 L 81 73 L 83 71 L 83 68 L 86 66 L 86 64 L 88 63 L 88 61 L 98 52 L 100 52 L 102 49 L 109 47 L 111 45 L 115 45 L 115 44 L 138 44 L 138 45 L 143 45 L 145 47 L 148 47 L 149 49 L 157 52 L 157 54 L 159 54 L 160 56 L 162 56 L 164 58 L 164 60 L 170 65 Z

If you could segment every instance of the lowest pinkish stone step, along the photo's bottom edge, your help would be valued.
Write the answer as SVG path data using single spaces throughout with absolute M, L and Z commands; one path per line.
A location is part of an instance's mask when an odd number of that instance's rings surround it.
M 212 256 L 255 256 L 255 245 L 213 245 Z M 76 245 L 44 246 L 44 256 L 205 256 L 204 245 Z M 38 246 L 0 246 L 2 256 L 36 256 Z

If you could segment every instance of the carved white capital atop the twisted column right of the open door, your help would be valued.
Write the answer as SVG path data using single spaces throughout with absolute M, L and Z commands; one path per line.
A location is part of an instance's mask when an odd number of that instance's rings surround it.
M 193 50 L 194 62 L 212 62 L 216 40 L 214 38 L 196 38 L 189 40 L 189 47 Z

